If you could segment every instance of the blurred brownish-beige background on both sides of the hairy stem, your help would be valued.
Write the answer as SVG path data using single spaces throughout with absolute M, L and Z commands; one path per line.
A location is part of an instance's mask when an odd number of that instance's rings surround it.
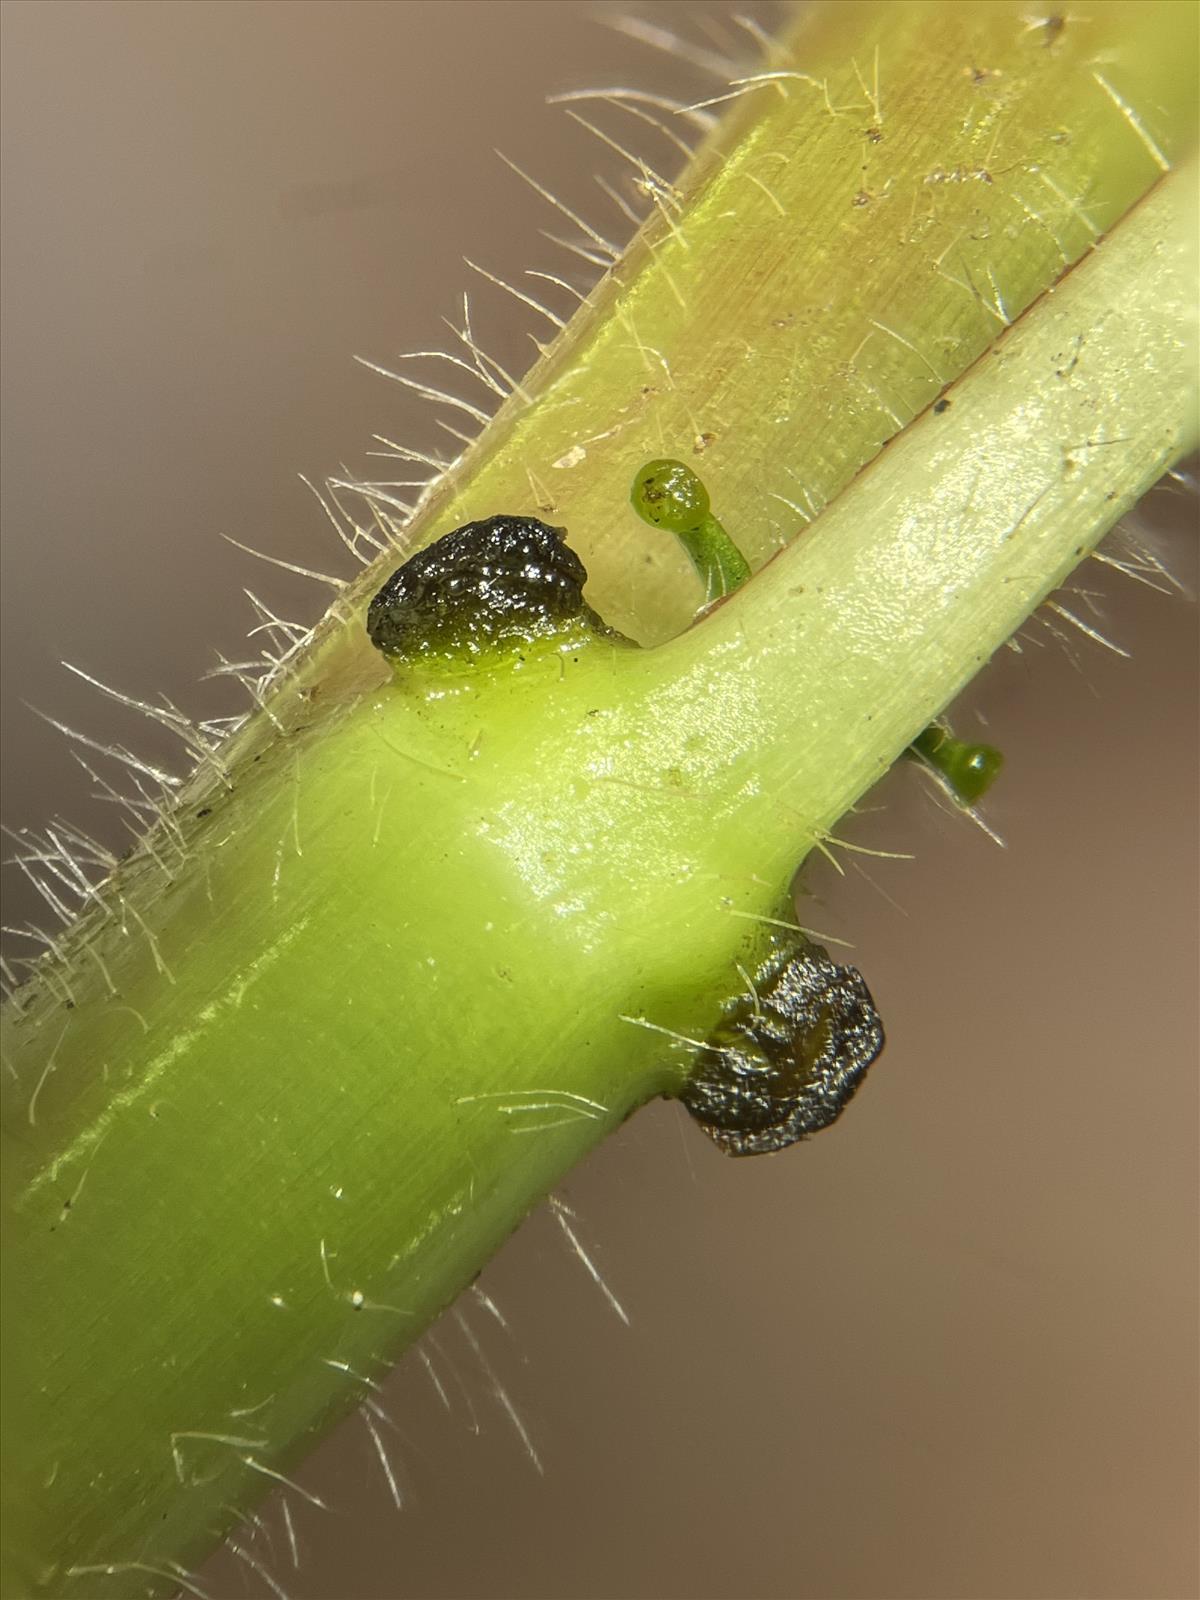
M 614 14 L 3 6 L 10 826 L 120 840 L 21 701 L 166 754 L 59 658 L 211 715 L 235 702 L 194 683 L 242 648 L 240 586 L 315 616 L 218 533 L 328 566 L 296 474 L 365 469 L 376 430 L 434 442 L 352 354 L 443 342 L 462 254 L 576 277 L 493 146 L 619 224 L 592 182 L 616 166 L 541 96 L 714 80 Z M 722 5 L 638 14 L 747 43 Z M 536 318 L 470 286 L 520 366 Z M 1192 584 L 1194 514 L 1155 512 Z M 850 1115 L 742 1163 L 638 1115 L 565 1189 L 632 1326 L 544 1213 L 483 1278 L 509 1331 L 464 1306 L 544 1477 L 448 1320 L 451 1410 L 414 1360 L 384 1397 L 403 1510 L 354 1419 L 304 1478 L 333 1514 L 293 1496 L 299 1570 L 277 1504 L 246 1530 L 293 1600 L 1197 1594 L 1197 611 L 1078 582 L 1133 659 L 1030 629 L 958 712 L 1008 754 L 1008 848 L 902 770 L 853 837 L 917 859 L 811 874 L 890 1034 Z M 29 915 L 10 875 L 5 920 Z M 229 1555 L 202 1586 L 272 1592 Z

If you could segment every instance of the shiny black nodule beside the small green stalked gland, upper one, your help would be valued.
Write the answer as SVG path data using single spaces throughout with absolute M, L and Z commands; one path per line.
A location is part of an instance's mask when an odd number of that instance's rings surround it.
M 565 531 L 534 517 L 488 517 L 435 539 L 371 600 L 371 643 L 398 662 L 470 662 L 536 640 L 618 638 L 584 600 L 587 570 Z

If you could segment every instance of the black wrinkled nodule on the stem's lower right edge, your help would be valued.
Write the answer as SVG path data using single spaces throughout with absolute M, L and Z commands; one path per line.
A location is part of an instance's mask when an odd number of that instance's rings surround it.
M 827 1128 L 883 1050 L 854 966 L 800 939 L 771 955 L 709 1034 L 680 1099 L 726 1155 L 762 1155 Z

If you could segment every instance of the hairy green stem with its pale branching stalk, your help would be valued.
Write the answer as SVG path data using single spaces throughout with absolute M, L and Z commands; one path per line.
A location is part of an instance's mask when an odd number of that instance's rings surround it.
M 659 648 L 450 683 L 390 682 L 365 582 L 27 987 L 6 1595 L 171 1592 L 680 1083 L 642 1022 L 702 1037 L 808 848 L 1194 445 L 1181 13 L 1088 10 L 814 8 L 419 536 L 566 522 L 658 640 L 696 594 L 642 459 L 701 450 L 755 565 L 837 494 L 811 531 Z

